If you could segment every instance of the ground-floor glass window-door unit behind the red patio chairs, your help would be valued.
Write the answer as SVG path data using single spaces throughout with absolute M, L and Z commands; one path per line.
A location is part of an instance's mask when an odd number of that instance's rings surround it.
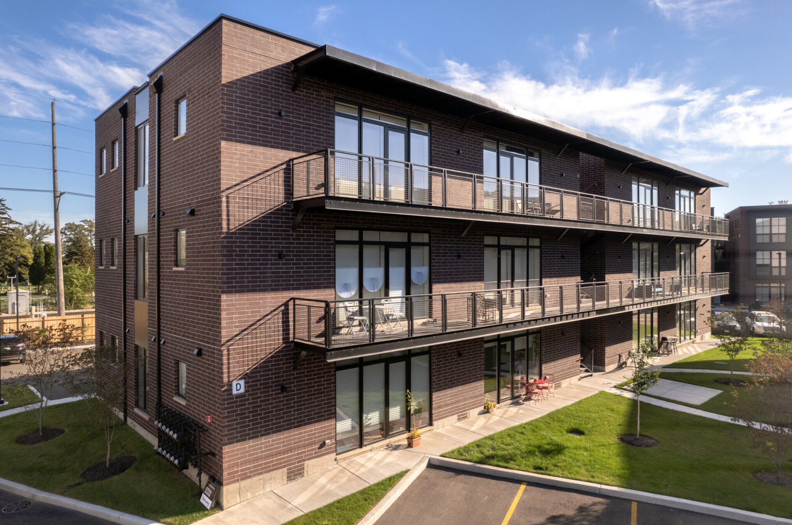
M 542 373 L 539 330 L 484 341 L 484 394 L 501 403 L 525 394 L 527 379 Z

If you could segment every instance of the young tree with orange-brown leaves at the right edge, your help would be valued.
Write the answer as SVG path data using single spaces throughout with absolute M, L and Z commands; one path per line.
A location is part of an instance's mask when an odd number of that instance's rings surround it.
M 779 482 L 792 450 L 792 342 L 764 348 L 748 363 L 753 382 L 735 397 L 733 421 L 748 425 L 753 446 L 767 454 Z

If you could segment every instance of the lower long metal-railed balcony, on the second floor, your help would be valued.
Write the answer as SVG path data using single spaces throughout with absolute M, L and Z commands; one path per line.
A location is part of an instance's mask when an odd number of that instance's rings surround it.
M 339 360 L 728 292 L 728 273 L 703 273 L 348 301 L 294 299 L 292 337 L 303 351 Z

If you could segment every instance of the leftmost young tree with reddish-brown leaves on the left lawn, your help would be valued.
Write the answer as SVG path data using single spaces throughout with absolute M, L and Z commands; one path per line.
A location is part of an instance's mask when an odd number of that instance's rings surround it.
M 28 405 L 39 420 L 39 435 L 44 433 L 44 410 L 55 385 L 65 379 L 70 369 L 69 356 L 74 347 L 82 340 L 82 328 L 62 321 L 57 326 L 41 328 L 21 325 L 17 336 L 25 343 L 26 371 L 13 374 L 17 382 L 30 385 L 38 390 L 41 399 Z

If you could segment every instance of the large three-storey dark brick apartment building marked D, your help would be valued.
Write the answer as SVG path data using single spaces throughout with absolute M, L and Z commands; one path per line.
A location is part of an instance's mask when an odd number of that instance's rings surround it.
M 728 289 L 701 173 L 225 15 L 149 78 L 96 120 L 97 329 L 224 506 L 705 337 Z

